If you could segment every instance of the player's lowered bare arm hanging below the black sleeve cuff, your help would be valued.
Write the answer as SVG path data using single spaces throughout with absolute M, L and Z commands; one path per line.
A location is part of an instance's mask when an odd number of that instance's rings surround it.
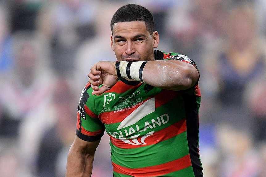
M 87 142 L 75 136 L 68 153 L 66 177 L 90 177 L 94 153 L 100 140 Z

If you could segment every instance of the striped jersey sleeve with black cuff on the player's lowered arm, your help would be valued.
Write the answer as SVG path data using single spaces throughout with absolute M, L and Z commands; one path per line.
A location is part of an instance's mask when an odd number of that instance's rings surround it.
M 88 84 L 81 92 L 80 102 L 77 109 L 76 135 L 85 141 L 97 141 L 104 134 L 105 127 L 94 113 L 94 99 L 90 93 L 91 86 Z

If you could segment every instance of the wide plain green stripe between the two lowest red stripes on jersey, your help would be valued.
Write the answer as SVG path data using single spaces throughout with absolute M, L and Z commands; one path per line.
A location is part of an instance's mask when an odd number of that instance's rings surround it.
M 111 158 L 114 163 L 133 169 L 160 165 L 188 155 L 186 139 L 185 131 L 163 142 L 132 149 L 118 148 L 110 142 Z

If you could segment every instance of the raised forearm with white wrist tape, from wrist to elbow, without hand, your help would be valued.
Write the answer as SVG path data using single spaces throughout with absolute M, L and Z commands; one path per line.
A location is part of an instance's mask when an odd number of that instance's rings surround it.
M 191 88 L 196 84 L 199 77 L 195 66 L 178 60 L 148 61 L 144 67 L 140 67 L 140 63 L 131 63 L 130 67 L 127 65 L 128 62 L 122 62 L 121 66 L 120 63 L 120 70 L 117 70 L 118 77 L 120 72 L 123 78 L 129 78 L 130 76 L 151 86 L 175 91 Z M 127 65 L 127 68 L 125 65 Z M 131 75 L 125 74 L 126 70 Z M 135 70 L 135 72 L 132 72 L 132 70 Z

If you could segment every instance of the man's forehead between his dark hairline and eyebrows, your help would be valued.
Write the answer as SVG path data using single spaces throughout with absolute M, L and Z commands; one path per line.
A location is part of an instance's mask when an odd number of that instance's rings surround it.
M 113 35 L 147 34 L 145 22 L 117 22 L 113 26 Z

